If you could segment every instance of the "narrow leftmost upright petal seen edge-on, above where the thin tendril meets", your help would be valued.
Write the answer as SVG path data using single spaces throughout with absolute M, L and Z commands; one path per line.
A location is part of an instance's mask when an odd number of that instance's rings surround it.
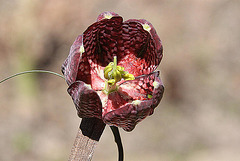
M 68 85 L 76 80 L 91 83 L 90 66 L 84 52 L 80 52 L 82 35 L 79 35 L 71 46 L 70 53 L 62 65 L 62 72 Z

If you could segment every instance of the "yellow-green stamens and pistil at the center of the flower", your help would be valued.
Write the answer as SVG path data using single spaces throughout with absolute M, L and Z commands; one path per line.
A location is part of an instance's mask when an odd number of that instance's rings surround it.
M 127 71 L 124 71 L 124 67 L 117 65 L 117 56 L 114 56 L 113 62 L 110 62 L 104 68 L 104 78 L 106 79 L 106 81 L 103 92 L 106 94 L 116 91 L 118 89 L 116 83 L 119 82 L 122 78 L 124 80 L 135 79 L 135 77 L 132 74 L 128 73 Z

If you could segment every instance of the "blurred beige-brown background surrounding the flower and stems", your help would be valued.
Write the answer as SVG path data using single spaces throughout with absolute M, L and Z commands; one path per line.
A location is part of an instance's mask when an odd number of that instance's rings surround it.
M 104 11 L 150 21 L 160 36 L 164 97 L 130 133 L 127 161 L 240 160 L 240 1 L 0 0 L 0 79 L 60 73 L 75 38 Z M 80 119 L 67 84 L 28 74 L 0 84 L 0 160 L 67 160 Z M 106 127 L 93 160 L 117 160 Z

